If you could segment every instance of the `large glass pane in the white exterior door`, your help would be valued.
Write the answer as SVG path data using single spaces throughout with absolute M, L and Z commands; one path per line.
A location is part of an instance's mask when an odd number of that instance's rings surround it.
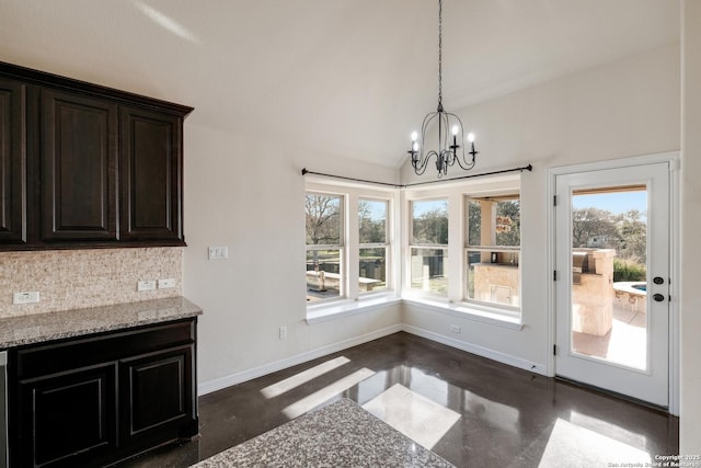
M 572 196 L 572 347 L 647 367 L 647 191 L 613 187 Z

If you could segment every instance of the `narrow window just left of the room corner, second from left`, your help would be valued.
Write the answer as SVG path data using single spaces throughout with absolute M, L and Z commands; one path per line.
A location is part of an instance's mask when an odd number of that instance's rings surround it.
M 358 202 L 358 292 L 387 290 L 388 214 L 387 201 Z

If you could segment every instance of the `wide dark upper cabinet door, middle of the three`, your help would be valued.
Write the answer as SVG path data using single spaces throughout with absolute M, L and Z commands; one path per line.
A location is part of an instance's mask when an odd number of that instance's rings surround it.
M 116 240 L 117 106 L 41 92 L 42 240 Z

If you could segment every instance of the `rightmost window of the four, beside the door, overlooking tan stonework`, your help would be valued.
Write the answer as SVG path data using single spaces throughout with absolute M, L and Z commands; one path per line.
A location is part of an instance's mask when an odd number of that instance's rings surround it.
M 520 307 L 518 195 L 468 197 L 467 299 Z

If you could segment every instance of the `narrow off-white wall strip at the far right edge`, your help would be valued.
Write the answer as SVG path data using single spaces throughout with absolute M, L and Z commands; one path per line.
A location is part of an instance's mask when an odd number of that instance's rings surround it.
M 682 454 L 701 454 L 701 2 L 682 2 L 681 416 Z M 688 259 L 688 260 L 687 260 Z M 687 260 L 687 261 L 685 261 Z

